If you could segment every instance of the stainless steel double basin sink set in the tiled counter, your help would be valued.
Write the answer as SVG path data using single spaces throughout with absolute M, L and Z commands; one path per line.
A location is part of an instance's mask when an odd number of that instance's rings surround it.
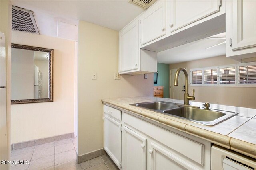
M 141 107 L 156 111 L 158 113 L 186 119 L 202 125 L 214 126 L 238 113 L 231 111 L 223 111 L 217 109 L 206 110 L 202 107 L 186 106 L 170 102 L 156 101 L 130 104 L 132 106 Z

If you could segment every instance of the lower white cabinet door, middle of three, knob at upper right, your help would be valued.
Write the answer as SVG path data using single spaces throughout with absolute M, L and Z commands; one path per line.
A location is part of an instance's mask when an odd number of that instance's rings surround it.
M 147 139 L 124 126 L 122 141 L 124 170 L 146 170 Z

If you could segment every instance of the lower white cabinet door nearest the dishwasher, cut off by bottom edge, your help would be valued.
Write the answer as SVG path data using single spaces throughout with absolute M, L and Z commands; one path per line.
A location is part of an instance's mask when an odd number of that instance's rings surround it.
M 177 157 L 174 153 L 169 152 L 162 145 L 151 143 L 148 153 L 151 155 L 152 170 L 196 170 L 188 162 Z

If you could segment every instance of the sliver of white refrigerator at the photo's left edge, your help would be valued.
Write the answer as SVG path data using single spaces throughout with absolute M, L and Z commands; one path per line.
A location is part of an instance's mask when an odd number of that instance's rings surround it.
M 5 62 L 5 35 L 0 32 L 0 160 L 8 160 Z M 0 164 L 0 169 L 5 168 Z

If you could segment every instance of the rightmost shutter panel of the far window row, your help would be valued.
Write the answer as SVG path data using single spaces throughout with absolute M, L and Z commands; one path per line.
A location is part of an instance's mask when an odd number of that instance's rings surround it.
M 238 67 L 238 84 L 256 84 L 256 65 Z

